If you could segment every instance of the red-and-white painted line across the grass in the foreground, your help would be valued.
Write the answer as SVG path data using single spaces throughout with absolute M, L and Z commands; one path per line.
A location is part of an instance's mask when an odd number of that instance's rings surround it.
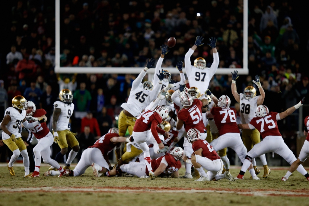
M 8 188 L 0 187 L 0 193 L 3 192 L 152 192 L 152 193 L 226 193 L 239 194 L 247 196 L 302 196 L 309 197 L 307 191 L 280 191 L 280 190 L 216 190 L 216 189 L 178 189 L 178 188 L 130 188 L 117 187 L 26 187 L 26 188 Z

